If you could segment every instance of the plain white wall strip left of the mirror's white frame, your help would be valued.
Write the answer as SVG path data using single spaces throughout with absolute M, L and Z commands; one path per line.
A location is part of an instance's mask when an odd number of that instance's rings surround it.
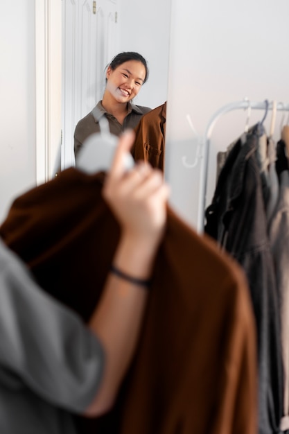
M 0 222 L 36 180 L 34 28 L 34 1 L 1 3 Z

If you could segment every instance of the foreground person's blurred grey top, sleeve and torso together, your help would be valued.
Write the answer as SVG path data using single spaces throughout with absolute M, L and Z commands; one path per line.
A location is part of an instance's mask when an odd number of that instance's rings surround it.
M 0 241 L 0 433 L 76 434 L 102 371 L 96 337 Z

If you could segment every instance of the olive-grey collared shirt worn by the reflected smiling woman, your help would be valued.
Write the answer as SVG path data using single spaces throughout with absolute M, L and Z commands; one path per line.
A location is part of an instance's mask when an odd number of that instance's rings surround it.
M 115 136 L 119 136 L 127 128 L 134 129 L 143 114 L 150 112 L 150 107 L 143 107 L 142 105 L 134 105 L 128 103 L 128 114 L 125 116 L 123 124 L 110 113 L 108 113 L 103 107 L 101 101 L 98 101 L 96 107 L 87 114 L 76 125 L 74 131 L 74 155 L 77 158 L 80 148 L 83 146 L 83 142 L 87 137 L 95 132 L 100 132 L 99 120 L 102 116 L 106 116 L 110 125 L 110 132 Z

